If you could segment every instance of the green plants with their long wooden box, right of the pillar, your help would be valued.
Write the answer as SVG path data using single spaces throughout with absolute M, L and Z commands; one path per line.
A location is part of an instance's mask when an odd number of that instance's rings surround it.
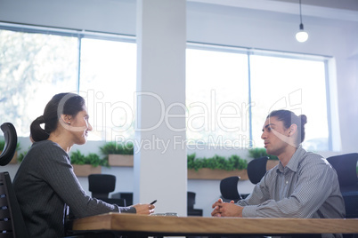
M 248 163 L 239 155 L 232 155 L 229 158 L 219 155 L 196 158 L 195 154 L 191 154 L 187 158 L 189 179 L 223 179 L 231 176 L 248 179 Z

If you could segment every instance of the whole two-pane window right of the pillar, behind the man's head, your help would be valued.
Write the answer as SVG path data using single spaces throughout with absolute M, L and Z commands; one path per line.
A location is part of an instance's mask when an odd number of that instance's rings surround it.
M 187 139 L 223 147 L 264 147 L 274 109 L 307 115 L 303 146 L 329 149 L 326 61 L 281 52 L 220 46 L 187 50 Z

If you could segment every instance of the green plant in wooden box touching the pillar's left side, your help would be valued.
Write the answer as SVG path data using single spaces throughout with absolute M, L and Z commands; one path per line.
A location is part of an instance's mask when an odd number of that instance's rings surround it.
M 100 147 L 104 159 L 108 160 L 110 166 L 133 167 L 134 145 L 133 143 L 108 142 Z

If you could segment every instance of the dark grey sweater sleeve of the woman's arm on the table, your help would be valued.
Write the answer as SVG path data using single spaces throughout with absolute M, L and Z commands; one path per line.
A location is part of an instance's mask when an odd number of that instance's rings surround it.
M 69 163 L 69 155 L 61 151 L 61 148 L 54 147 L 49 152 L 44 152 L 39 159 L 39 170 L 45 180 L 61 200 L 69 205 L 71 212 L 77 218 L 107 212 L 136 212 L 134 207 L 119 207 L 85 194 Z

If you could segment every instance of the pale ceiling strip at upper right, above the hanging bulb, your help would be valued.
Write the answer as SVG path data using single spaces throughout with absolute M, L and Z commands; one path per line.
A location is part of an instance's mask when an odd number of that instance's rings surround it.
M 187 0 L 271 12 L 299 14 L 299 0 Z M 302 15 L 358 21 L 358 0 L 301 0 Z

